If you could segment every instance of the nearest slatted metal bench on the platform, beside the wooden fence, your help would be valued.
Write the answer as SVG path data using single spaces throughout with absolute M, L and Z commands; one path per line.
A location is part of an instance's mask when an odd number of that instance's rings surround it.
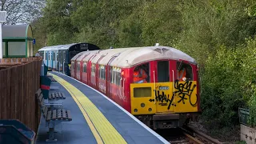
M 39 91 L 36 93 L 38 105 L 40 106 L 43 118 L 46 119 L 46 126 L 49 127 L 49 138 L 46 139 L 46 142 L 56 142 L 57 139 L 54 138 L 54 126 L 57 126 L 61 122 L 72 121 L 71 113 L 70 110 L 64 110 L 62 108 L 53 109 L 51 107 L 52 105 L 46 105 L 42 93 L 39 93 Z M 38 96 L 38 94 L 40 95 Z

